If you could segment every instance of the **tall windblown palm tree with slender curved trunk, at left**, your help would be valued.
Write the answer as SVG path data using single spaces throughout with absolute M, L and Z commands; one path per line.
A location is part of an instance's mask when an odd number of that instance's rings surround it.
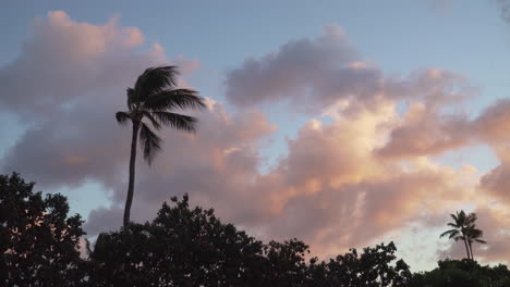
M 148 164 L 161 149 L 161 138 L 150 128 L 160 129 L 161 125 L 195 133 L 197 120 L 193 116 L 174 113 L 174 110 L 203 109 L 204 98 L 192 89 L 177 89 L 177 66 L 149 67 L 138 76 L 134 88 L 127 88 L 127 111 L 117 112 L 116 118 L 121 124 L 130 120 L 133 123 L 130 157 L 130 182 L 124 209 L 124 228 L 130 223 L 131 204 L 133 201 L 136 141 L 144 148 L 144 159 Z M 148 123 L 143 120 L 148 120 Z

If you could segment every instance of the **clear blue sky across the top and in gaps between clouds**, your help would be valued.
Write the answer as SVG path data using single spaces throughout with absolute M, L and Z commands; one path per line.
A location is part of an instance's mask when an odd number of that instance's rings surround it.
M 440 8 L 439 2 L 449 2 Z M 159 42 L 167 54 L 198 59 L 209 72 L 199 72 L 192 84 L 204 96 L 223 101 L 223 72 L 250 57 L 276 51 L 290 39 L 316 37 L 325 25 L 344 27 L 361 54 L 387 73 L 406 74 L 415 68 L 440 67 L 461 72 L 483 87 L 481 97 L 466 104 L 473 115 L 495 99 L 509 95 L 509 25 L 494 2 L 483 0 L 394 1 L 15 1 L 0 9 L 0 65 L 19 53 L 36 16 L 63 10 L 72 20 L 102 24 L 120 15 L 121 26 L 136 26 L 147 42 Z M 1 97 L 1 96 L 0 96 Z M 232 110 L 232 107 L 228 108 Z M 286 137 L 294 138 L 306 121 L 290 118 L 278 107 L 265 111 L 279 126 L 272 145 L 262 149 L 269 159 L 262 170 L 286 153 Z M 2 115 L 2 117 L 9 117 Z M 0 126 L 2 135 L 21 135 L 21 126 Z M 0 151 L 15 140 L 0 140 Z M 466 162 L 494 166 L 481 148 Z M 485 155 L 484 155 L 485 154 Z M 487 160 L 489 159 L 489 160 Z M 445 162 L 451 159 L 445 157 Z

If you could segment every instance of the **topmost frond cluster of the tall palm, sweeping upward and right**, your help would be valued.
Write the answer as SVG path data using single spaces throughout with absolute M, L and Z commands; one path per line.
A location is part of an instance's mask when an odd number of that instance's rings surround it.
M 177 66 L 149 67 L 136 79 L 134 90 L 138 101 L 145 101 L 149 95 L 177 86 Z

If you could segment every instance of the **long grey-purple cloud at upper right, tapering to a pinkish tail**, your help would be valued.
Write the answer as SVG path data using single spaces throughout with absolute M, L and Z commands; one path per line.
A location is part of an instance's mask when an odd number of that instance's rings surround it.
M 472 96 L 475 88 L 458 73 L 423 68 L 388 76 L 359 55 L 339 26 L 316 39 L 293 40 L 277 52 L 248 59 L 227 73 L 227 99 L 241 108 L 282 100 L 300 112 L 317 113 L 339 100 L 367 107 L 381 99 L 425 99 L 439 105 Z

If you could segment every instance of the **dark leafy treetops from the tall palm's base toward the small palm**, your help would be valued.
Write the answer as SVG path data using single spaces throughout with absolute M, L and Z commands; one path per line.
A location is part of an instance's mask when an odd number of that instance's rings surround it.
M 260 241 L 221 223 L 189 198 L 163 204 L 151 223 L 102 234 L 90 254 L 94 286 L 406 286 L 409 266 L 394 245 L 365 248 L 329 263 L 306 263 L 308 246 Z

